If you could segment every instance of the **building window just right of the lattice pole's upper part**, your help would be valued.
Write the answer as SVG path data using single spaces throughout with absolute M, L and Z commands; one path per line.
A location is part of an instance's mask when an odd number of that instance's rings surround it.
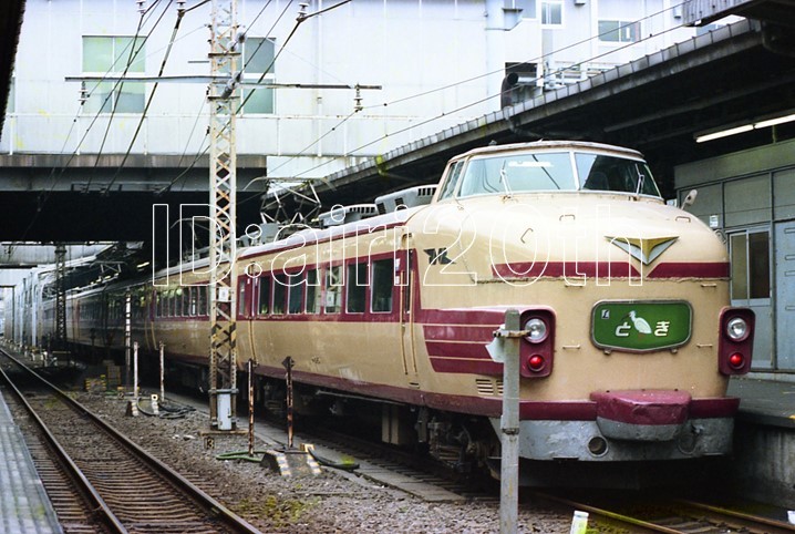
M 276 81 L 273 70 L 273 58 L 276 44 L 272 39 L 250 37 L 242 45 L 242 73 L 244 81 L 256 82 L 265 73 L 261 83 L 273 83 Z M 248 88 L 242 89 L 244 113 L 273 113 L 273 89 L 272 88 Z

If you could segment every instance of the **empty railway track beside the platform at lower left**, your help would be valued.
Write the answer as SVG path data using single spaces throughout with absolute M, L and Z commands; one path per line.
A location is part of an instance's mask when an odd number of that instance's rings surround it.
M 64 532 L 259 532 L 22 362 L 0 355 L 32 379 L 23 392 L 0 370 L 45 441 L 32 454 Z

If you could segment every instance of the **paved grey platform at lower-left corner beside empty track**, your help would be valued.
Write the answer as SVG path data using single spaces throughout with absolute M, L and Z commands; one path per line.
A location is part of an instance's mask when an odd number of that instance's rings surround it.
M 63 533 L 22 432 L 0 392 L 0 532 Z

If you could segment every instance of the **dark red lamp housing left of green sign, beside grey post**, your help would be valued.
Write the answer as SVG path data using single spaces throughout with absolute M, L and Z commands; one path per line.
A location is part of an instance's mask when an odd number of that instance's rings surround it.
M 549 308 L 522 312 L 525 331 L 519 347 L 519 372 L 526 378 L 548 377 L 555 352 L 555 312 Z

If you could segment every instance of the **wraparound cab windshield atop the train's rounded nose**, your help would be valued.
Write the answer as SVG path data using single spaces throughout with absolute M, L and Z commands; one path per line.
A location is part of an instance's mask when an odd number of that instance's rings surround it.
M 577 174 L 572 165 L 577 167 Z M 579 183 L 576 176 L 579 176 Z M 440 198 L 556 191 L 606 191 L 660 196 L 644 162 L 575 152 L 514 153 L 472 158 L 450 173 Z M 446 193 L 446 194 L 445 194 Z

